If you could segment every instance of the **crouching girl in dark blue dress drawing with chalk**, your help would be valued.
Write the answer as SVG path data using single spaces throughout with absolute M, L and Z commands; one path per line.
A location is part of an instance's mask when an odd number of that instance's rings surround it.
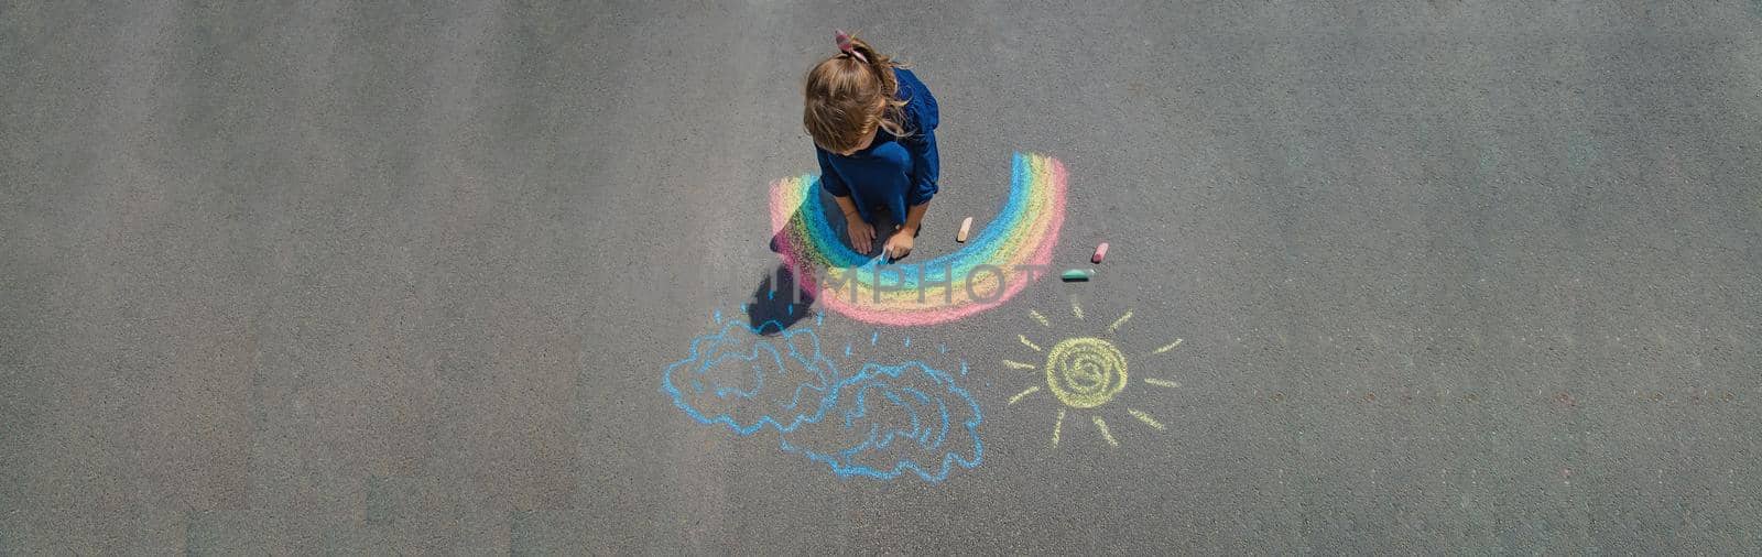
M 923 212 L 936 196 L 936 97 L 869 42 L 837 33 L 839 55 L 807 72 L 802 122 L 814 137 L 819 185 L 844 210 L 851 249 L 869 254 L 876 210 L 886 208 L 881 254 L 911 254 Z

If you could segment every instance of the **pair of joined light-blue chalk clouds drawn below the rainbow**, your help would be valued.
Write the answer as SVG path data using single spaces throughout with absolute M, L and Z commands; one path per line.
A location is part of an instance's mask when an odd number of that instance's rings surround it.
M 909 472 L 939 483 L 983 457 L 980 405 L 955 377 L 922 361 L 870 361 L 840 374 L 803 326 L 728 319 L 663 370 L 661 393 L 701 425 L 740 437 L 775 432 L 782 451 L 839 478 Z

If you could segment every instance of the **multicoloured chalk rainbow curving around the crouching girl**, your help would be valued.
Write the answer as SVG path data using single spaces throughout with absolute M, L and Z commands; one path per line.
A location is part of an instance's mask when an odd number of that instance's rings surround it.
M 772 229 L 803 291 L 814 294 L 821 284 L 840 289 L 816 296 L 825 308 L 877 324 L 946 323 L 999 307 L 1040 278 L 1024 266 L 1052 263 L 1064 226 L 1064 182 L 1057 159 L 1015 153 L 1010 197 L 990 226 L 953 254 L 879 271 L 865 268 L 870 257 L 851 250 L 832 226 L 812 175 L 772 183 Z

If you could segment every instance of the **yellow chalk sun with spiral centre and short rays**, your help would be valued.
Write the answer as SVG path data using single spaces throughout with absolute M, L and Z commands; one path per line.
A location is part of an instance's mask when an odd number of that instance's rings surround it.
M 1077 316 L 1078 321 L 1084 319 L 1084 308 L 1077 305 L 1077 301 L 1071 301 L 1071 314 Z M 1027 316 L 1034 317 L 1034 321 L 1040 323 L 1041 326 L 1052 328 L 1052 321 L 1047 319 L 1047 316 L 1041 316 L 1036 310 L 1029 310 Z M 1129 310 L 1124 316 L 1119 316 L 1119 319 L 1114 319 L 1114 323 L 1107 326 L 1108 335 L 1119 331 L 1119 326 L 1126 324 L 1128 319 L 1131 319 Z M 1036 353 L 1045 353 L 1047 354 L 1045 361 L 1036 367 L 1033 363 L 1004 360 L 1003 365 L 1013 370 L 1041 370 L 1045 375 L 1045 386 L 1034 384 L 1029 386 L 1027 390 L 1022 390 L 1015 397 L 1010 397 L 1010 405 L 1015 405 L 1017 402 L 1027 398 L 1029 395 L 1040 393 L 1041 388 L 1050 391 L 1052 397 L 1057 398 L 1059 404 L 1062 404 L 1062 407 L 1059 407 L 1057 418 L 1052 423 L 1054 448 L 1059 446 L 1059 435 L 1064 430 L 1064 416 L 1068 411 L 1099 411 L 1108 402 L 1114 402 L 1114 398 L 1121 391 L 1124 391 L 1126 386 L 1131 382 L 1131 375 L 1126 372 L 1128 368 L 1126 354 L 1121 353 L 1121 349 L 1114 345 L 1112 340 L 1096 337 L 1073 337 L 1059 340 L 1057 344 L 1052 345 L 1050 351 L 1041 349 L 1038 344 L 1029 340 L 1027 335 L 1017 335 L 1017 340 L 1020 340 L 1022 345 Z M 1181 345 L 1181 338 L 1175 338 L 1175 342 L 1170 342 L 1163 347 L 1158 347 L 1156 351 L 1151 351 L 1151 354 L 1163 354 L 1175 349 L 1177 345 Z M 1166 379 L 1154 379 L 1154 377 L 1145 377 L 1144 384 L 1159 388 L 1181 386 L 1179 382 Z M 1156 430 L 1168 428 L 1166 425 L 1156 421 L 1156 418 L 1151 418 L 1151 414 L 1140 409 L 1128 407 L 1126 414 L 1142 421 L 1151 428 Z M 1101 418 L 1101 414 L 1094 414 L 1089 418 L 1091 421 L 1094 421 L 1096 432 L 1101 434 L 1101 439 L 1105 439 L 1112 446 L 1119 446 L 1119 441 L 1114 439 L 1114 432 L 1108 430 L 1107 420 Z

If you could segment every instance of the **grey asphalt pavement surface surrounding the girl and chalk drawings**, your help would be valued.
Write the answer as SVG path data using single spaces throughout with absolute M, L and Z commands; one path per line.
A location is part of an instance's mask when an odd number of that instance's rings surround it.
M 657 391 L 835 26 L 941 100 L 913 257 L 1013 152 L 1112 243 L 795 324 L 969 363 L 943 483 Z M 1762 2 L 21 2 L 0 60 L 0 553 L 1762 552 Z M 1126 310 L 1166 430 L 1054 448 L 1001 361 Z

